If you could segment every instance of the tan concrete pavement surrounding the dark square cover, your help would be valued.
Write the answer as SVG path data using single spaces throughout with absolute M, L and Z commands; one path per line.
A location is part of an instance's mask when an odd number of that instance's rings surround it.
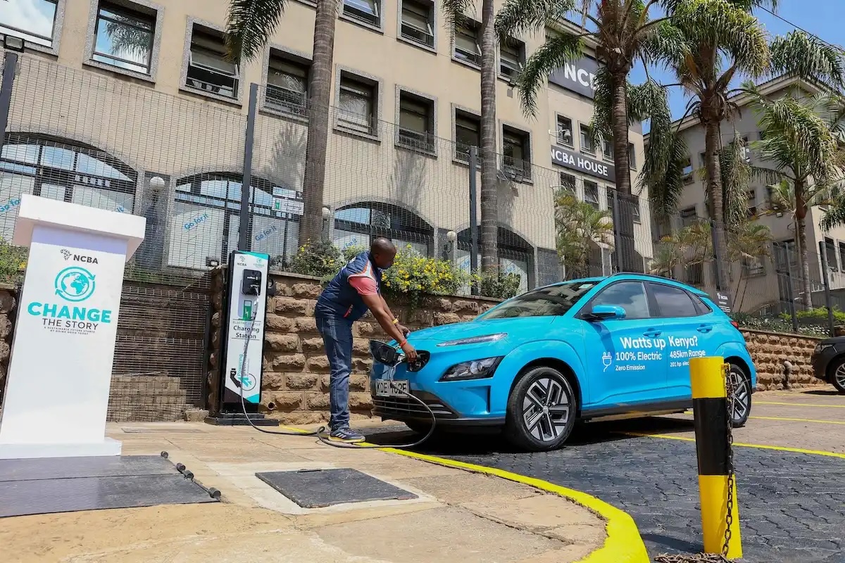
M 395 453 L 202 423 L 108 434 L 124 455 L 167 451 L 224 502 L 3 518 L 0 545 L 18 546 L 4 563 L 565 563 L 606 539 L 601 517 L 559 495 Z M 300 468 L 356 468 L 418 498 L 303 509 L 254 476 Z

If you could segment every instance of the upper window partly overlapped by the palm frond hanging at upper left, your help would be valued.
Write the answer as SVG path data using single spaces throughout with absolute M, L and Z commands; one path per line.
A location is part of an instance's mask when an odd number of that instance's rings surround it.
M 226 60 L 223 34 L 194 24 L 188 54 L 186 86 L 226 98 L 237 98 L 240 74 L 237 63 Z

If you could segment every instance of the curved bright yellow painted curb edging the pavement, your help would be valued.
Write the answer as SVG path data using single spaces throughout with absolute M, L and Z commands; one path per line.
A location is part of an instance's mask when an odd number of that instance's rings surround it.
M 619 508 L 597 499 L 595 496 L 587 495 L 580 490 L 567 489 L 560 485 L 554 485 L 542 479 L 534 479 L 525 475 L 510 473 L 510 471 L 504 471 L 503 469 L 488 468 L 483 465 L 458 462 L 423 453 L 407 452 L 392 447 L 379 447 L 378 449 L 383 452 L 413 457 L 414 459 L 428 463 L 463 469 L 473 473 L 493 475 L 494 477 L 508 479 L 516 483 L 521 483 L 522 485 L 529 485 L 536 489 L 553 493 L 554 495 L 563 496 L 564 498 L 570 499 L 570 501 L 585 506 L 592 512 L 596 512 L 607 521 L 605 532 L 608 537 L 604 540 L 602 547 L 579 560 L 578 563 L 649 563 L 651 561 L 634 519 L 627 512 L 623 512 Z

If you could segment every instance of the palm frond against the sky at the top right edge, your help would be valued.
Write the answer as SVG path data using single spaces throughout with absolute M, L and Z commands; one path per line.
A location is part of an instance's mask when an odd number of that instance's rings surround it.
M 771 41 L 771 70 L 841 89 L 845 86 L 845 51 L 796 30 Z

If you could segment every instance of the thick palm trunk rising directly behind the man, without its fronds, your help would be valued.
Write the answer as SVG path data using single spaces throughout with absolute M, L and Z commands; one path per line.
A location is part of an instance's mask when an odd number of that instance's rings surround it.
M 308 80 L 308 144 L 305 148 L 303 217 L 299 244 L 323 238 L 323 188 L 325 155 L 329 144 L 331 77 L 335 54 L 335 0 L 317 0 L 314 19 L 313 60 Z

